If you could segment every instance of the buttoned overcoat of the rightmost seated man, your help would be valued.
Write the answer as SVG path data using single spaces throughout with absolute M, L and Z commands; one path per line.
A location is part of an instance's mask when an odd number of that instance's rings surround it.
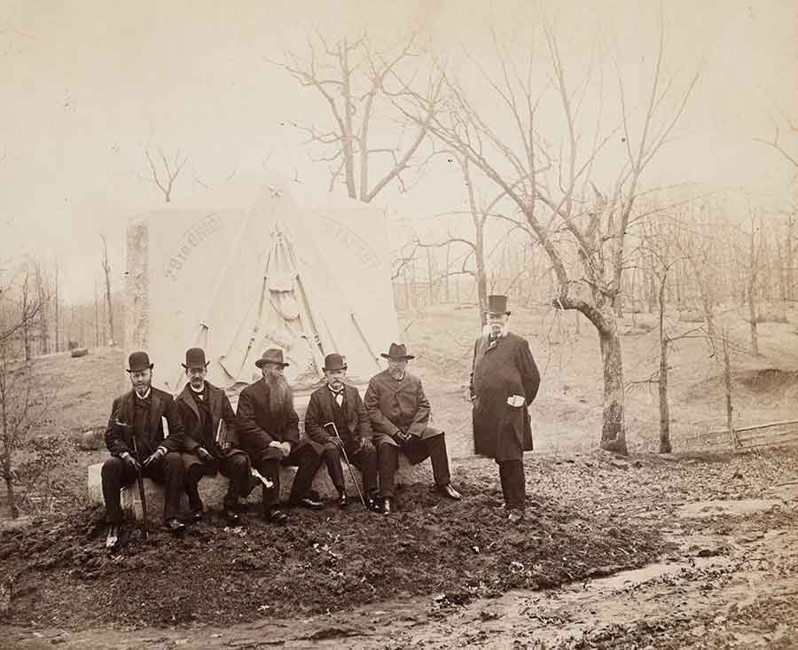
M 364 403 L 375 444 L 396 445 L 395 436 L 400 431 L 422 439 L 443 433 L 429 426 L 429 400 L 421 380 L 410 372 L 405 372 L 401 380 L 395 380 L 387 370 L 374 375 L 366 388 Z

